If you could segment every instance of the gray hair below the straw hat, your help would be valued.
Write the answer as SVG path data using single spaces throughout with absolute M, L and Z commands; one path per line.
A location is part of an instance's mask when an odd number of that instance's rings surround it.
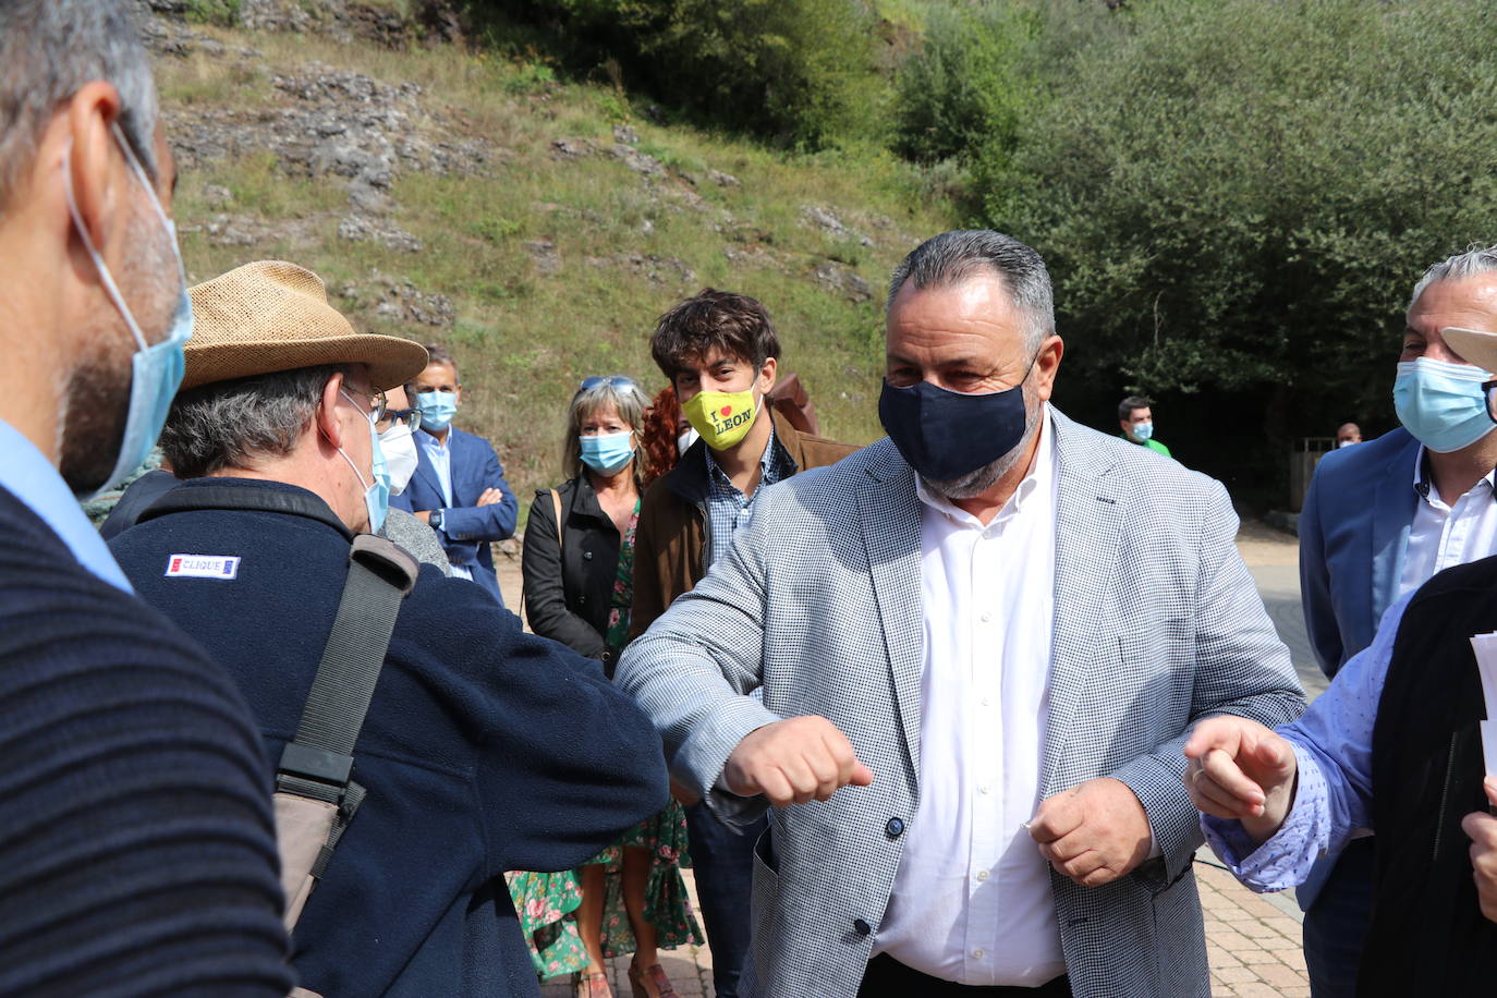
M 328 364 L 256 374 L 189 389 L 172 401 L 162 429 L 162 453 L 180 479 L 247 468 L 256 458 L 284 458 L 296 449 L 334 374 Z

